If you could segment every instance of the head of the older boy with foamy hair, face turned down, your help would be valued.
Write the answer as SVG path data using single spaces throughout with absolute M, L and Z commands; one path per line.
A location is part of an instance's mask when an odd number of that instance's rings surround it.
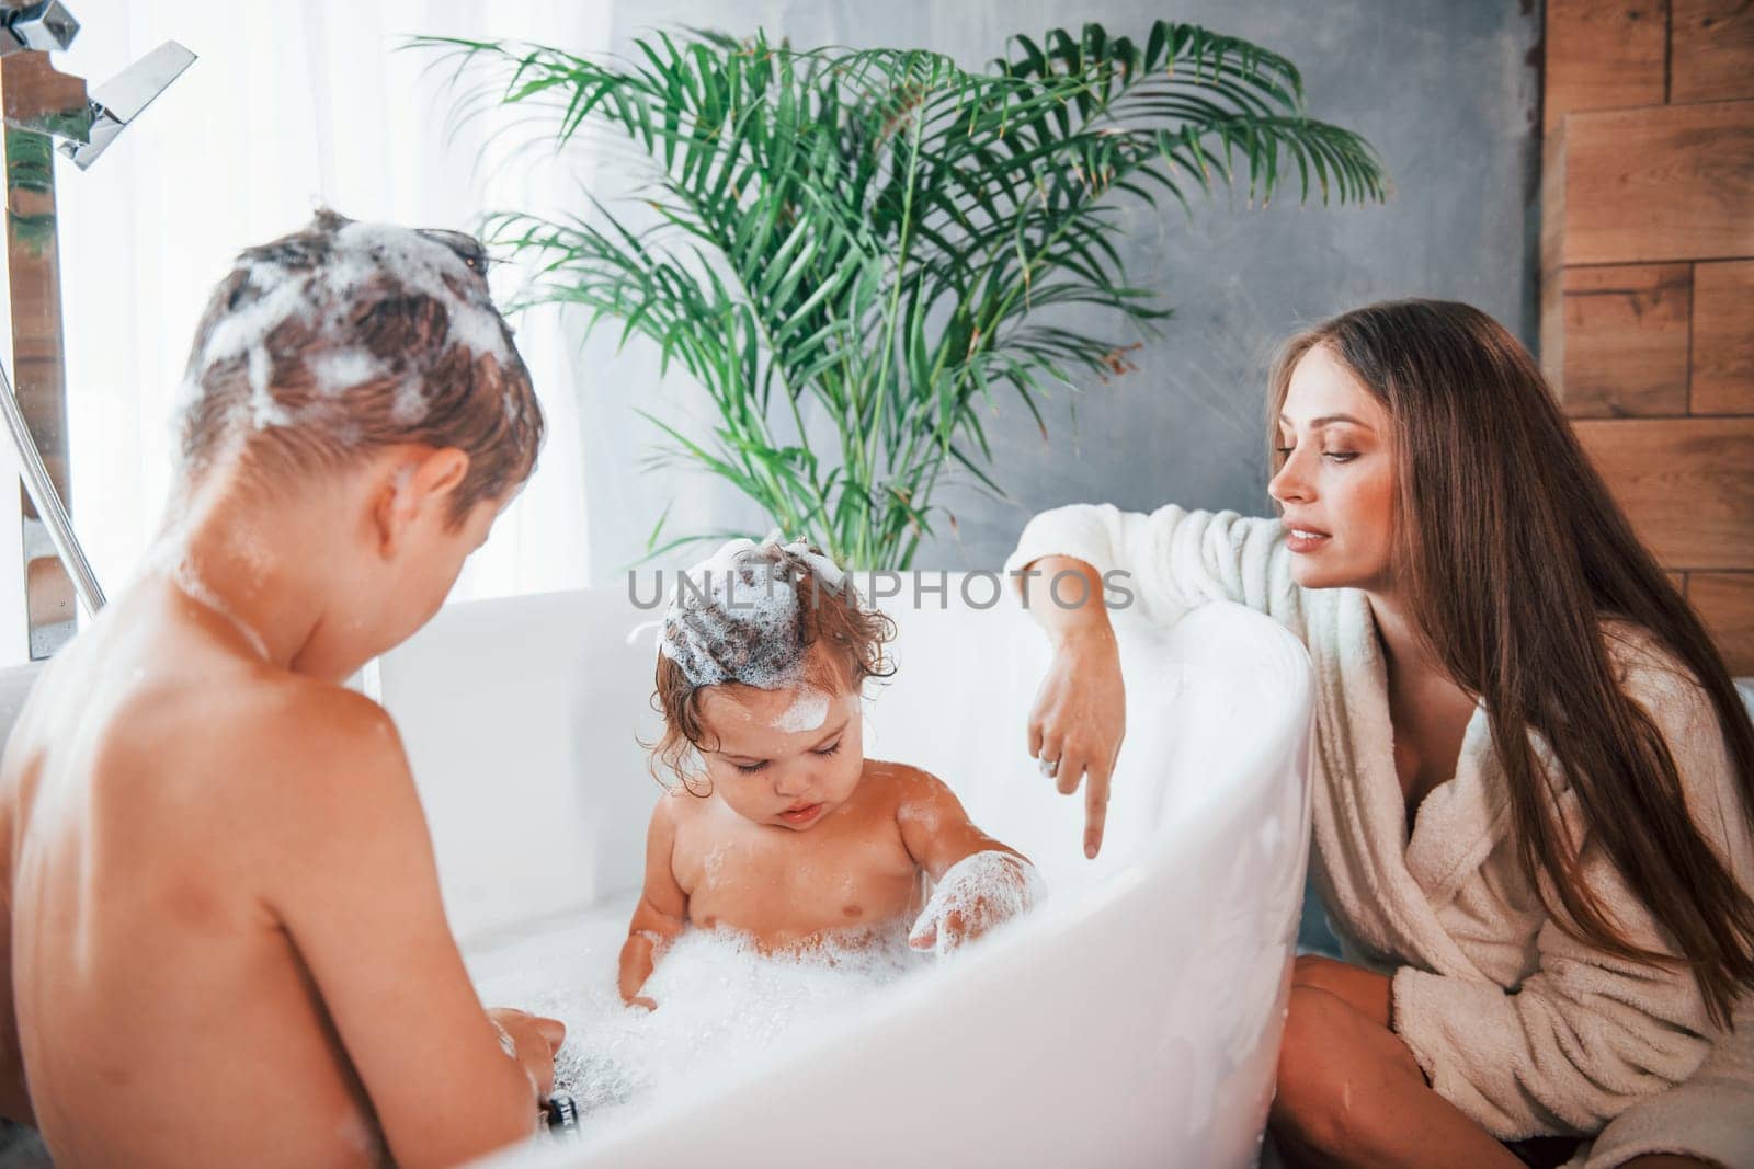
M 202 315 L 182 491 L 319 508 L 358 552 L 324 552 L 335 608 L 312 671 L 424 624 L 535 470 L 542 410 L 484 268 L 468 235 L 323 210 L 240 252 Z

